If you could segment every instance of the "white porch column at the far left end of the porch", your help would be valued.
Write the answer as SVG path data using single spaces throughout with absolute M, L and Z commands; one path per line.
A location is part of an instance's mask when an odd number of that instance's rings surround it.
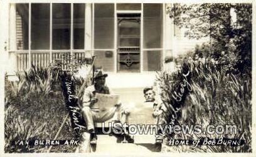
M 9 6 L 9 50 L 15 51 L 16 49 L 16 4 L 13 3 Z M 9 53 L 8 63 L 8 72 L 14 73 L 18 68 L 16 53 Z

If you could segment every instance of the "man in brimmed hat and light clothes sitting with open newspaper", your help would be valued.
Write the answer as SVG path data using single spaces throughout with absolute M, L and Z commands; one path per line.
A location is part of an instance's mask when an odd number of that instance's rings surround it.
M 94 123 L 105 122 L 112 119 L 114 116 L 117 117 L 115 121 L 120 121 L 121 114 L 129 114 L 127 111 L 122 109 L 121 104 L 115 104 L 112 108 L 101 110 L 94 104 L 97 103 L 97 98 L 95 98 L 96 93 L 101 94 L 111 94 L 110 89 L 105 86 L 105 78 L 107 74 L 104 73 L 102 69 L 97 69 L 94 72 L 95 83 L 88 86 L 83 94 L 83 104 L 82 104 L 82 114 L 87 125 L 87 130 L 91 134 L 91 144 L 96 144 L 97 136 L 95 134 Z

